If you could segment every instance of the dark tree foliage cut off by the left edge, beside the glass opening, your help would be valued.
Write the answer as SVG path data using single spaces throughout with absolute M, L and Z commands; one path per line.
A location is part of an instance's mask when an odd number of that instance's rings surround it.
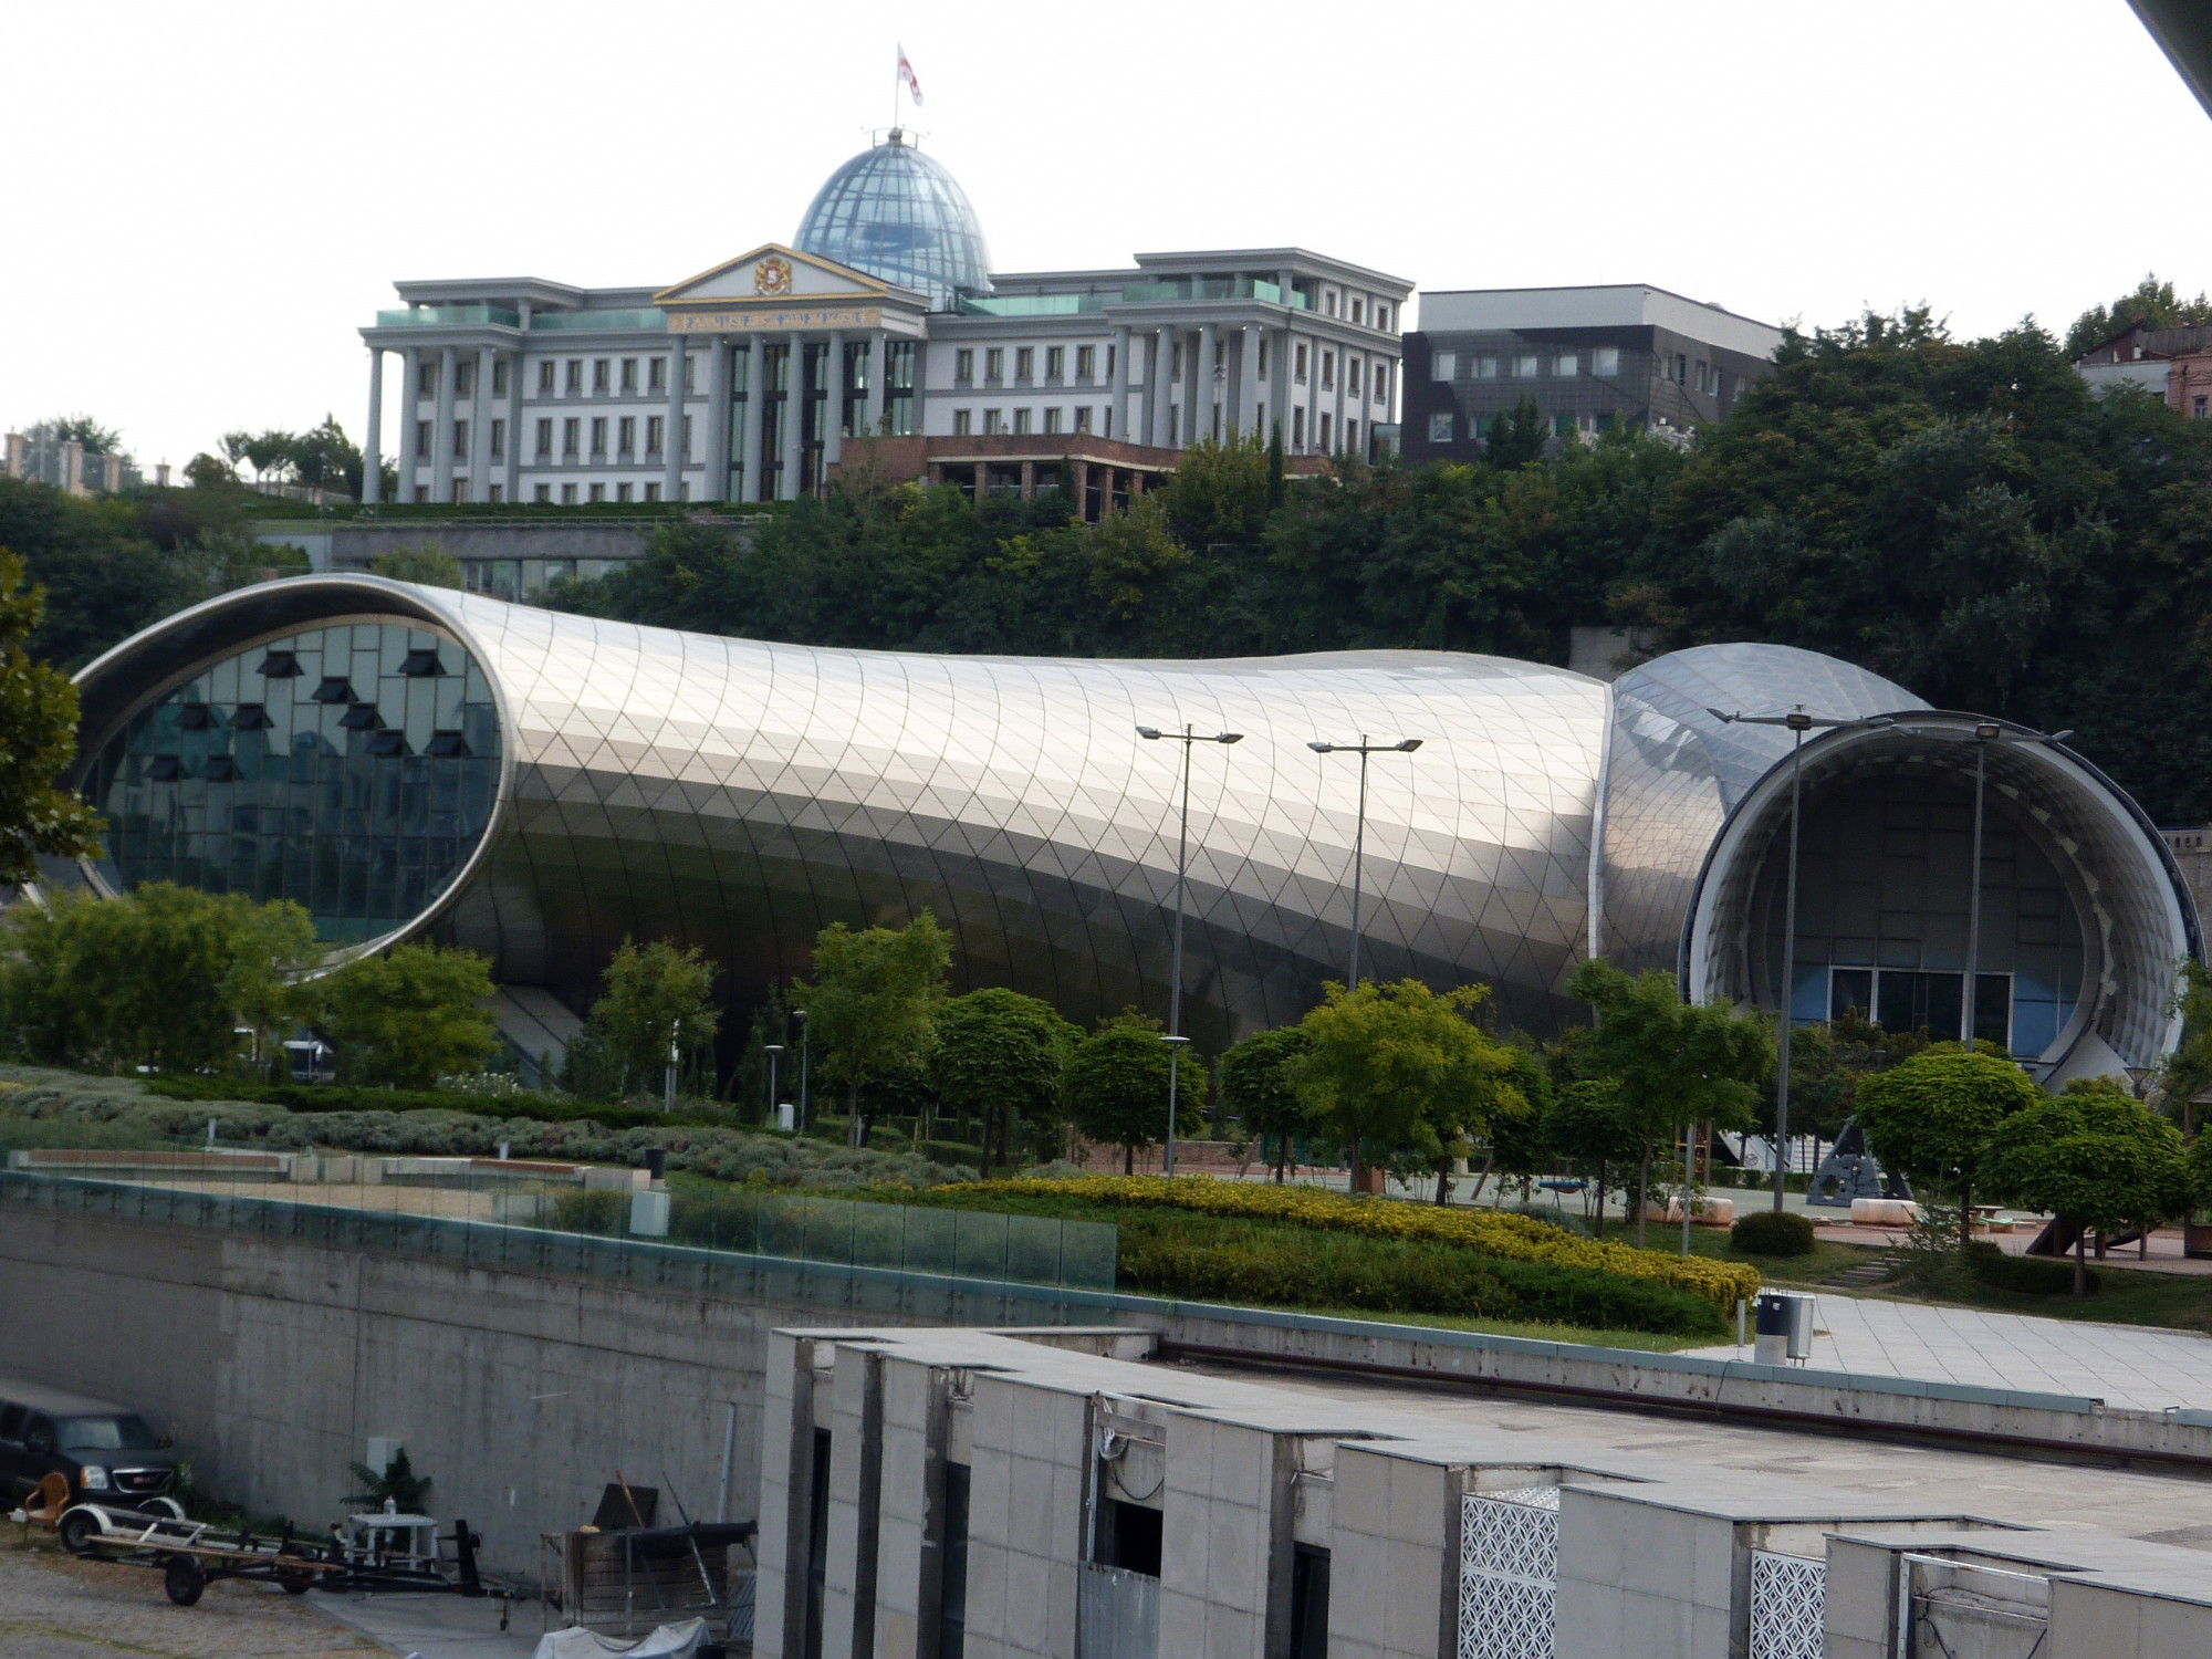
M 100 854 L 100 816 L 55 779 L 77 757 L 77 688 L 27 641 L 46 595 L 24 591 L 22 560 L 0 549 L 0 883 L 38 876 L 44 858 Z

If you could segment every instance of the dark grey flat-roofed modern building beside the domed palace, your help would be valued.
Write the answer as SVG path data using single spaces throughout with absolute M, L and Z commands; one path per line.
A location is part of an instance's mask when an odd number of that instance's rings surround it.
M 1781 330 L 1663 288 L 1473 288 L 1420 296 L 1405 336 L 1405 453 L 1475 460 L 1535 398 L 1559 438 L 1608 422 L 1688 434 L 1767 374 Z

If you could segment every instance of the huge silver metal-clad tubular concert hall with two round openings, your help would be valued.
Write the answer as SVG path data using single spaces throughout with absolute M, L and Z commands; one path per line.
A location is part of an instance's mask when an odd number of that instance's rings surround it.
M 1166 1013 L 1183 754 L 1141 726 L 1241 734 L 1190 757 L 1206 1048 L 1345 975 L 1356 843 L 1360 973 L 1484 980 L 1500 1026 L 1540 1035 L 1582 1018 L 1564 984 L 1599 951 L 1798 1020 L 1955 1037 L 1971 1009 L 2057 1084 L 2154 1064 L 2199 953 L 2159 834 L 2064 734 L 1783 646 L 1613 684 L 1413 650 L 931 657 L 319 575 L 168 617 L 77 679 L 100 891 L 294 898 L 334 951 L 465 945 L 571 1015 L 624 936 L 701 947 L 745 1009 L 807 973 L 821 927 L 922 909 L 956 989 Z M 1374 757 L 1365 812 L 1358 757 L 1312 748 L 1400 739 L 1420 748 Z

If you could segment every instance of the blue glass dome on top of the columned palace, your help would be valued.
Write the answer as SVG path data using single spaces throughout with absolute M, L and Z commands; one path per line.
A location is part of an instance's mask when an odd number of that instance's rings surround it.
M 830 175 L 794 246 L 929 294 L 940 312 L 960 292 L 991 292 L 991 254 L 967 190 L 896 128 Z

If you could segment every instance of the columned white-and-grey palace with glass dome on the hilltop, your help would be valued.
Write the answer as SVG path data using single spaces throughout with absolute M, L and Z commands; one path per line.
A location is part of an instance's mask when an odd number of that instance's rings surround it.
M 1396 425 L 1405 279 L 1303 248 L 987 259 L 958 181 L 894 131 L 792 243 L 675 283 L 403 281 L 361 330 L 369 495 L 387 396 L 409 502 L 790 500 L 863 436 L 925 440 L 900 451 L 920 471 L 929 440 L 1172 451 L 1281 427 L 1329 456 Z

